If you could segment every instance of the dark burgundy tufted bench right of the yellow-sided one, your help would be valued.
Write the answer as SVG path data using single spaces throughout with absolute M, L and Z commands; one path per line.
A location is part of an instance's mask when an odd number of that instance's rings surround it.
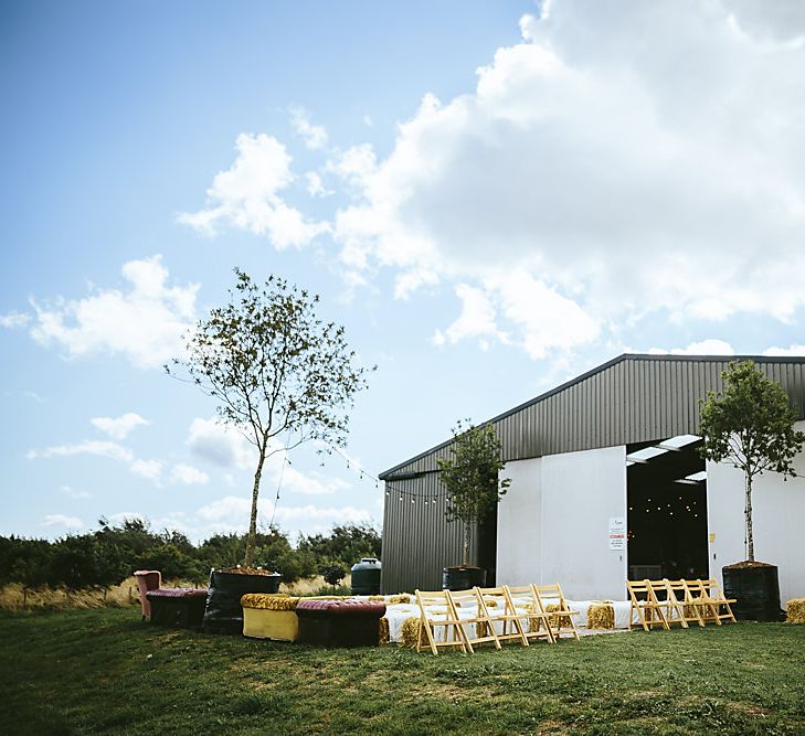
M 374 600 L 300 600 L 299 641 L 318 647 L 377 647 L 385 604 Z

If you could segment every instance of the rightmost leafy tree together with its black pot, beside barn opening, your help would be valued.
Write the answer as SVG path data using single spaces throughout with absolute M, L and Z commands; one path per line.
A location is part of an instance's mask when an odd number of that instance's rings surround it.
M 737 618 L 772 621 L 780 617 L 777 568 L 754 557 L 752 481 L 765 471 L 795 476 L 792 460 L 805 442 L 794 430 L 796 415 L 782 386 L 752 361 L 732 361 L 721 373 L 724 391 L 701 399 L 703 457 L 731 462 L 744 476 L 746 559 L 722 568 L 724 593 L 735 598 Z

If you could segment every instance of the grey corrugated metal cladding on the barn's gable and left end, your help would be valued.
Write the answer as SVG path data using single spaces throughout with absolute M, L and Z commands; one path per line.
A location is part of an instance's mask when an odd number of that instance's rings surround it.
M 558 388 L 506 412 L 495 424 L 504 459 L 521 460 L 599 447 L 697 434 L 698 399 L 720 391 L 730 359 L 622 355 Z M 751 356 L 791 396 L 805 417 L 805 359 Z M 383 515 L 383 589 L 441 586 L 441 569 L 460 561 L 460 525 L 447 524 L 436 459 L 448 442 L 386 470 L 386 488 L 441 498 L 436 508 L 407 497 L 386 495 Z M 424 473 L 394 480 L 395 476 Z

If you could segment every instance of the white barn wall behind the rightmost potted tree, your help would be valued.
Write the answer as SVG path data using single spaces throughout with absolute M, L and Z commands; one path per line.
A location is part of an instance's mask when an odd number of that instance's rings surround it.
M 805 431 L 805 422 L 796 428 Z M 786 481 L 765 472 L 752 483 L 754 556 L 780 568 L 780 599 L 805 597 L 805 452 L 794 458 L 797 477 Z M 707 463 L 710 575 L 746 558 L 743 473 L 727 463 Z

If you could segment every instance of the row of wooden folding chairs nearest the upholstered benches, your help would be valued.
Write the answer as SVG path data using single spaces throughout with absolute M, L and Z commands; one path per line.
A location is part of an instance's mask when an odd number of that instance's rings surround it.
M 416 590 L 415 596 L 417 652 L 424 649 L 437 654 L 442 648 L 453 648 L 472 654 L 483 643 L 501 649 L 505 641 L 528 647 L 532 640 L 579 639 L 572 618 L 578 611 L 570 609 L 558 584 Z

